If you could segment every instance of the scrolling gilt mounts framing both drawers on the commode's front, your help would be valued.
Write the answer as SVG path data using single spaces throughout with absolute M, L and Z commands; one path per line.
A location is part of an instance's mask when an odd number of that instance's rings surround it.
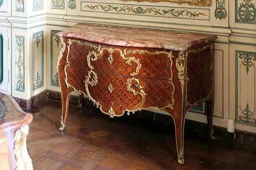
M 91 52 L 88 53 L 88 56 L 86 56 L 86 60 L 88 62 L 88 66 L 90 69 L 90 71 L 88 71 L 88 75 L 85 76 L 85 80 L 84 80 L 84 83 L 85 83 L 85 90 L 86 92 L 82 92 L 80 90 L 77 90 L 75 87 L 71 86 L 71 84 L 68 83 L 68 75 L 67 75 L 67 67 L 70 66 L 69 65 L 69 61 L 68 61 L 68 56 L 69 56 L 69 51 L 70 51 L 70 48 L 69 46 L 72 44 L 72 42 L 77 42 L 81 45 L 85 45 L 85 46 L 89 46 L 91 48 L 93 48 L 94 50 L 92 50 Z M 130 113 L 134 113 L 136 111 L 141 111 L 141 109 L 147 109 L 147 108 L 142 108 L 143 104 L 144 104 L 144 101 L 145 101 L 145 96 L 146 96 L 146 93 L 141 89 L 143 88 L 139 82 L 138 82 L 138 79 L 135 80 L 135 78 L 131 78 L 131 79 L 127 79 L 127 90 L 130 91 L 130 92 L 133 92 L 134 95 L 137 95 L 137 94 L 140 94 L 142 95 L 142 101 L 141 101 L 141 104 L 139 105 L 138 108 L 135 108 L 135 109 L 125 109 L 122 111 L 122 114 L 115 114 L 114 112 L 114 109 L 110 108 L 108 112 L 105 112 L 102 110 L 102 105 L 100 104 L 99 101 L 96 101 L 93 99 L 93 97 L 90 95 L 90 92 L 89 92 L 89 88 L 88 88 L 88 84 L 90 84 L 90 86 L 96 86 L 97 83 L 98 83 L 98 77 L 97 77 L 97 73 L 93 71 L 94 67 L 91 65 L 90 61 L 96 61 L 98 56 L 102 55 L 103 54 L 103 51 L 104 50 L 108 50 L 108 52 L 110 54 L 112 54 L 114 51 L 118 51 L 119 52 L 119 56 L 122 57 L 123 59 L 126 59 L 126 63 L 127 65 L 131 65 L 131 62 L 130 61 L 133 61 L 135 63 L 137 63 L 137 69 L 134 73 L 131 73 L 130 75 L 137 75 L 139 73 L 139 70 L 141 69 L 141 63 L 139 63 L 139 59 L 136 59 L 135 57 L 125 57 L 126 54 L 135 54 L 135 53 L 139 53 L 139 54 L 144 54 L 144 53 L 148 53 L 148 54 L 167 54 L 167 57 L 170 59 L 170 71 L 171 71 L 171 76 L 170 78 L 168 79 L 168 82 L 171 84 L 172 88 L 174 89 L 172 92 L 171 92 L 171 95 L 172 95 L 172 103 L 171 104 L 168 104 L 166 105 L 165 107 L 162 107 L 162 108 L 158 108 L 158 107 L 154 107 L 155 109 L 160 109 L 160 110 L 164 110 L 164 108 L 171 108 L 171 109 L 174 109 L 174 104 L 175 104 L 175 99 L 174 99 L 174 92 L 175 92 L 175 86 L 174 86 L 174 83 L 172 82 L 172 78 L 173 78 L 173 73 L 172 73 L 172 58 L 174 57 L 174 55 L 172 54 L 172 51 L 171 52 L 166 52 L 166 51 L 155 51 L 155 52 L 148 52 L 147 50 L 127 50 L 127 49 L 124 49 L 123 51 L 118 49 L 118 48 L 101 48 L 100 45 L 98 46 L 95 46 L 93 44 L 90 44 L 88 42 L 81 42 L 81 41 L 78 41 L 78 40 L 71 40 L 69 39 L 68 40 L 68 54 L 67 54 L 67 64 L 65 65 L 64 67 L 64 73 L 65 73 L 65 83 L 67 85 L 67 87 L 72 87 L 74 91 L 76 92 L 79 92 L 81 94 L 81 92 L 83 94 L 86 94 L 88 95 L 89 97 L 89 100 L 92 100 L 93 104 L 96 105 L 97 108 L 100 108 L 101 112 L 102 113 L 105 113 L 105 114 L 108 114 L 110 117 L 114 117 L 114 116 L 123 116 L 123 114 L 125 114 L 125 112 L 127 112 L 127 114 L 129 115 Z M 93 78 L 93 79 L 91 79 Z M 140 88 L 139 91 L 135 91 L 132 87 L 131 87 L 131 81 L 132 80 L 135 80 L 135 82 L 137 82 L 137 84 L 134 84 L 135 87 L 137 88 Z M 111 90 L 112 88 L 110 88 Z M 150 107 L 152 108 L 152 107 Z

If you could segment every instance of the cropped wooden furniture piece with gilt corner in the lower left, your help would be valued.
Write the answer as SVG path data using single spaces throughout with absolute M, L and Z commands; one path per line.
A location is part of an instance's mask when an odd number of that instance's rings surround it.
M 33 169 L 26 146 L 32 119 L 11 96 L 0 93 L 0 169 Z

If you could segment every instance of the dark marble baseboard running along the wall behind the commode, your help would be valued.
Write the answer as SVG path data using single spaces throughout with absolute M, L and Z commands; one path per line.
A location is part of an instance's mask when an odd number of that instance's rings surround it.
M 23 109 L 30 109 L 32 106 L 40 103 L 46 99 L 58 100 L 61 101 L 60 92 L 46 90 L 41 92 L 40 94 L 31 97 L 29 100 L 19 99 L 18 97 L 14 97 L 14 99 L 18 102 L 20 107 Z M 78 96 L 71 95 L 69 103 L 78 105 Z M 92 101 L 85 97 L 82 101 L 82 107 L 95 108 Z M 151 122 L 152 124 L 162 125 L 162 126 L 171 126 L 174 130 L 174 121 L 171 116 L 166 114 L 160 114 L 156 112 L 151 112 L 147 110 L 142 110 L 140 112 L 135 112 L 135 114 L 131 114 L 130 116 L 124 115 L 125 117 L 134 118 L 141 121 Z M 192 134 L 200 137 L 207 137 L 208 135 L 208 125 L 202 122 L 185 120 L 185 134 Z M 247 133 L 244 131 L 237 131 L 236 133 L 229 133 L 226 128 L 214 126 L 214 135 L 217 138 L 221 138 L 224 140 L 235 140 L 243 143 L 244 145 L 254 146 L 256 147 L 255 139 L 256 134 Z

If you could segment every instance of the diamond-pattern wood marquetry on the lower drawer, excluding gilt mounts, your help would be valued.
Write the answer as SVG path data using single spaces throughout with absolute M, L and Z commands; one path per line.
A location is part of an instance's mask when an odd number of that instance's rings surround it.
M 77 91 L 81 90 L 86 93 L 85 90 L 85 76 L 88 75 L 88 69 L 81 66 L 70 65 L 66 69 L 68 83 L 75 87 Z M 76 74 L 82 75 L 84 80 L 81 80 Z M 102 105 L 104 112 L 108 112 L 110 107 L 114 109 L 115 114 L 122 114 L 125 109 L 135 109 L 142 102 L 142 96 L 127 90 L 127 79 L 130 76 L 119 76 L 112 74 L 104 74 L 96 72 L 98 77 L 98 83 L 96 86 L 88 85 L 88 90 L 92 98 L 98 101 Z M 138 87 L 135 87 L 136 82 L 132 82 L 131 88 L 135 91 L 139 91 Z M 113 91 L 109 91 L 109 84 L 112 84 Z M 146 100 L 143 108 L 155 106 L 163 108 L 172 103 L 172 93 L 174 88 L 167 80 L 151 79 L 151 78 L 139 78 L 139 85 L 141 85 L 146 93 Z

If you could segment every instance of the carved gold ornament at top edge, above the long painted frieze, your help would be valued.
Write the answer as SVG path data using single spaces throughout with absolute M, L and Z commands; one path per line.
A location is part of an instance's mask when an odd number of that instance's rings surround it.
M 119 0 L 119 1 L 137 1 L 137 2 L 171 2 L 171 3 L 187 3 L 188 5 L 196 6 L 210 6 L 210 1 L 212 0 Z

